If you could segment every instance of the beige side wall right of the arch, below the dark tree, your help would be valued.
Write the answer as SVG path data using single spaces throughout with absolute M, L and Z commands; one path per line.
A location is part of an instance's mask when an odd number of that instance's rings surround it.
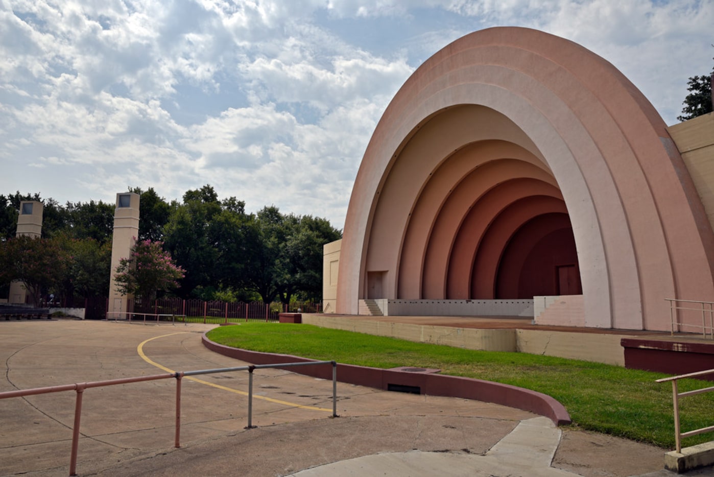
M 714 113 L 669 128 L 714 229 Z

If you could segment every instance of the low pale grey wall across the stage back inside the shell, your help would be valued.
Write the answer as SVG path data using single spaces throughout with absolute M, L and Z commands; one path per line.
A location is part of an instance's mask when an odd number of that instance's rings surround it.
M 392 316 L 533 316 L 533 300 L 389 300 L 388 313 Z

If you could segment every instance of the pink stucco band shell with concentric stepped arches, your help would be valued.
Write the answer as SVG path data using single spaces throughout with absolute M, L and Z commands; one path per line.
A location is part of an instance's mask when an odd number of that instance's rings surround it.
M 381 298 L 494 288 L 481 246 L 498 267 L 519 226 L 553 212 L 506 186 L 523 180 L 567 209 L 585 326 L 663 330 L 665 298 L 714 299 L 714 234 L 655 109 L 591 51 L 503 27 L 438 51 L 383 114 L 350 200 L 338 312 L 357 313 L 370 271 Z M 493 228 L 506 211 L 521 222 Z

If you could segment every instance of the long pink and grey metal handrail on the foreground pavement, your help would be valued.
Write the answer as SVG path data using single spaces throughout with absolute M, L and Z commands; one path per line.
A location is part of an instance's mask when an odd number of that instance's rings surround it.
M 199 374 L 229 373 L 231 371 L 248 371 L 248 426 L 253 426 L 253 370 L 263 368 L 291 368 L 293 366 L 312 366 L 318 364 L 332 365 L 332 417 L 337 415 L 337 362 L 336 361 L 303 361 L 297 363 L 276 363 L 276 364 L 251 364 L 250 366 L 236 366 L 233 368 L 213 368 L 200 369 L 196 371 L 177 371 L 176 373 L 154 374 L 151 376 L 136 376 L 134 378 L 109 379 L 105 381 L 91 381 L 86 383 L 64 384 L 61 386 L 49 386 L 45 388 L 19 389 L 17 391 L 6 391 L 0 393 L 0 399 L 18 398 L 24 396 L 34 396 L 36 394 L 59 393 L 61 391 L 76 391 L 77 397 L 74 406 L 74 425 L 72 426 L 72 450 L 69 458 L 69 475 L 76 476 L 77 448 L 79 447 L 79 423 L 82 412 L 82 396 L 87 388 L 99 388 L 103 386 L 114 386 L 115 384 L 139 383 L 142 381 L 156 381 L 158 379 L 176 378 L 176 432 L 174 446 L 181 447 L 179 438 L 181 436 L 181 378 L 183 376 L 197 376 Z M 303 406 L 296 406 L 303 407 Z

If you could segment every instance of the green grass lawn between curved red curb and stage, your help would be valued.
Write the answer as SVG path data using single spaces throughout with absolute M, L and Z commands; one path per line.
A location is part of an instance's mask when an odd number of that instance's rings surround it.
M 568 409 L 573 426 L 674 448 L 672 386 L 667 375 L 551 356 L 473 351 L 373 336 L 306 324 L 241 323 L 208 333 L 216 343 L 375 368 L 440 368 L 453 376 L 512 384 L 553 396 Z M 708 386 L 681 380 L 679 391 Z M 682 431 L 714 425 L 714 393 L 680 399 Z M 683 439 L 710 441 L 714 433 Z

